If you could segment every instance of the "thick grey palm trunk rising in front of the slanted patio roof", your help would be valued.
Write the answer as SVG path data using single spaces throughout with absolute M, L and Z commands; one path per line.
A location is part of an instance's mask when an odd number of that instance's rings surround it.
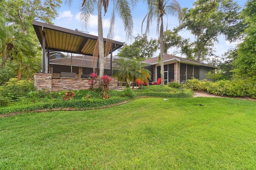
M 98 47 L 99 47 L 99 64 L 100 64 L 99 83 L 101 83 L 101 77 L 104 75 L 104 56 L 105 56 L 101 8 L 102 8 L 102 0 L 98 0 L 98 42 L 99 42 Z

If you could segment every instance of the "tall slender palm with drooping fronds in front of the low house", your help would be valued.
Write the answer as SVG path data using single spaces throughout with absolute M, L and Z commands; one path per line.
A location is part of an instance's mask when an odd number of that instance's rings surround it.
M 160 42 L 160 74 L 161 77 L 164 77 L 164 43 L 166 39 L 166 35 L 164 37 L 164 20 L 163 16 L 168 14 L 178 15 L 179 21 L 181 21 L 181 10 L 180 5 L 176 0 L 144 0 L 148 5 L 148 13 L 142 21 L 143 23 L 146 21 L 146 34 L 149 33 L 149 26 L 152 23 L 152 20 L 156 18 L 157 22 L 157 32 L 159 34 L 159 42 Z M 159 28 L 160 27 L 160 28 Z M 141 28 L 142 30 L 142 28 Z M 167 24 L 166 24 L 166 32 L 167 32 Z M 161 85 L 164 85 L 164 79 L 161 79 Z

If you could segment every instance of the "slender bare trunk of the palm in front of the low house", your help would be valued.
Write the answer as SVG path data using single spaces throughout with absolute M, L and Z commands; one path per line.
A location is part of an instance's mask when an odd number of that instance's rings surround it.
M 160 42 L 160 74 L 161 74 L 161 85 L 164 85 L 164 23 L 163 23 L 163 17 L 161 16 L 161 25 L 160 25 L 160 36 L 159 36 L 159 42 Z

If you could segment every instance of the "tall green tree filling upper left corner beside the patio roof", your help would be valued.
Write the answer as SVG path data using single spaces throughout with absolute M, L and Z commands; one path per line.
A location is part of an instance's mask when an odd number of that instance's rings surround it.
M 28 69 L 22 69 L 24 61 L 32 60 L 37 62 L 36 65 L 40 64 L 37 58 L 41 57 L 38 53 L 41 48 L 32 20 L 52 24 L 61 3 L 61 0 L 0 0 L 1 11 L 5 11 L 0 13 L 0 67 L 5 67 L 6 62 L 10 62 L 20 79 L 22 71 L 28 73 Z

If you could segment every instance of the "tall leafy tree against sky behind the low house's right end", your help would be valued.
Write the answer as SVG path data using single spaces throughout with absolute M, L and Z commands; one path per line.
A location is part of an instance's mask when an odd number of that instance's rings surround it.
M 240 21 L 237 17 L 239 9 L 233 0 L 196 0 L 193 8 L 182 9 L 180 29 L 186 28 L 195 38 L 194 42 L 184 43 L 182 51 L 196 61 L 206 61 L 206 57 L 214 56 L 213 46 L 220 34 L 225 34 L 228 40 L 234 39 L 230 32 Z

